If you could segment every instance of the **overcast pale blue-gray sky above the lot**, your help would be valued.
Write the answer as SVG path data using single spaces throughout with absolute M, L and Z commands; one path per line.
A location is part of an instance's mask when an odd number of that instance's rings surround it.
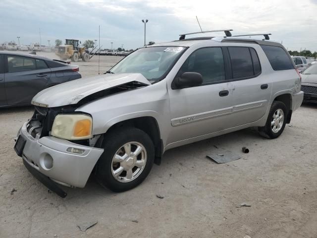
M 39 28 L 42 45 L 94 40 L 100 25 L 102 48 L 135 49 L 144 44 L 142 19 L 147 42 L 166 42 L 199 31 L 197 15 L 203 30 L 272 33 L 288 50 L 317 51 L 317 0 L 1 0 L 0 9 L 0 43 L 40 42 Z

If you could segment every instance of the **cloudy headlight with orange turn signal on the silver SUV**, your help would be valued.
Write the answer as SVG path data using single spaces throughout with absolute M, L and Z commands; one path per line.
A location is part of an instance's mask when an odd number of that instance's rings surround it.
M 92 138 L 93 119 L 83 114 L 59 114 L 55 117 L 51 135 L 66 140 Z

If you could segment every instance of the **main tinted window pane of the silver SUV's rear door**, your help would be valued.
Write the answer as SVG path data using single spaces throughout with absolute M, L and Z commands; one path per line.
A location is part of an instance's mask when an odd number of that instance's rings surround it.
M 253 63 L 248 47 L 228 47 L 233 78 L 245 78 L 254 75 Z

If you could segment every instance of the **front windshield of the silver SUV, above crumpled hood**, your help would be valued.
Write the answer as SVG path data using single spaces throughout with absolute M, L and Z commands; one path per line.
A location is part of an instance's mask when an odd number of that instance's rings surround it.
M 141 73 L 149 81 L 159 81 L 173 66 L 185 47 L 141 48 L 118 62 L 111 73 Z

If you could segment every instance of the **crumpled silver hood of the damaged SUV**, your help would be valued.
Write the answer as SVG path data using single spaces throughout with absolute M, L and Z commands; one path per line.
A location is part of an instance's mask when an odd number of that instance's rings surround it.
M 50 108 L 76 104 L 93 93 L 133 81 L 146 85 L 151 84 L 141 73 L 102 74 L 44 89 L 34 96 L 32 104 Z

